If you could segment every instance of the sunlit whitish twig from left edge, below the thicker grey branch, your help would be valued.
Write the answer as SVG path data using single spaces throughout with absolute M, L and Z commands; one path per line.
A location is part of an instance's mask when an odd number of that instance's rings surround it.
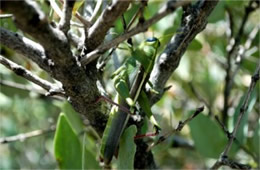
M 47 91 L 51 91 L 51 90 L 57 91 L 59 89 L 58 87 L 55 87 L 50 82 L 43 80 L 42 78 L 34 75 L 29 70 L 8 60 L 7 58 L 3 57 L 2 55 L 0 55 L 0 63 L 3 64 L 8 69 L 12 70 L 18 76 L 24 77 L 25 79 L 39 85 L 40 87 L 42 87 L 43 89 L 45 89 Z

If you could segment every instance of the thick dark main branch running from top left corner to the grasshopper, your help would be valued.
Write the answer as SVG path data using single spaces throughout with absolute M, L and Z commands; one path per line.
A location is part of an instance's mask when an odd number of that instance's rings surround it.
M 40 11 L 36 2 L 0 1 L 1 10 L 15 16 L 16 25 L 30 34 L 44 47 L 45 54 L 53 60 L 51 75 L 62 83 L 68 100 L 74 109 L 87 118 L 91 125 L 102 135 L 107 115 L 101 110 L 101 104 L 93 104 L 100 96 L 96 81 L 96 67 L 85 70 L 72 55 L 70 44 L 65 34 L 53 28 Z M 94 75 L 94 76 L 93 76 Z

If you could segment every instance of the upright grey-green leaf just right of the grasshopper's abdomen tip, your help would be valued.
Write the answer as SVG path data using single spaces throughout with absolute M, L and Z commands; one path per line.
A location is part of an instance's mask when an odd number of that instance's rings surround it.
M 136 145 L 134 136 L 137 132 L 135 125 L 128 127 L 123 133 L 119 144 L 118 169 L 134 169 Z

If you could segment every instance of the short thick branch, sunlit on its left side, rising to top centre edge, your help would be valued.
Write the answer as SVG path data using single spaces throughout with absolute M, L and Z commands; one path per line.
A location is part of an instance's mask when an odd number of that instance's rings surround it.
M 88 37 L 85 41 L 88 52 L 92 51 L 103 42 L 107 31 L 114 24 L 115 20 L 127 10 L 130 2 L 131 0 L 116 0 L 104 10 L 88 31 Z

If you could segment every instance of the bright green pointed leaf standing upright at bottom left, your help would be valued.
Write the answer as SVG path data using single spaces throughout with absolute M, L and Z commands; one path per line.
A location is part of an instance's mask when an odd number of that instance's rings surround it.
M 70 127 L 66 116 L 61 113 L 54 137 L 54 154 L 60 169 L 81 169 L 81 145 Z

